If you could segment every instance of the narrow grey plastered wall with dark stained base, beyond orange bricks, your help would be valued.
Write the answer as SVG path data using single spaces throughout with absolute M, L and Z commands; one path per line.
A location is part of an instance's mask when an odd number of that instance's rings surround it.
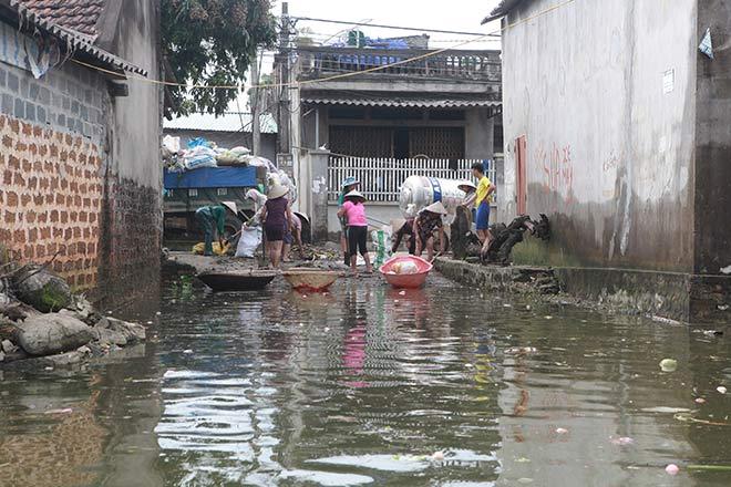
M 111 51 L 159 80 L 159 0 L 126 0 Z M 162 90 L 128 82 L 130 94 L 113 99 L 107 114 L 101 283 L 107 292 L 140 290 L 159 277 L 163 172 L 159 162 Z

